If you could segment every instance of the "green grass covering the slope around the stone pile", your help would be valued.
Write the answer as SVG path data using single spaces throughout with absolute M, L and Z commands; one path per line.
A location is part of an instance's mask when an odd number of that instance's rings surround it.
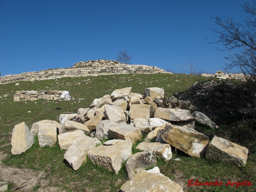
M 90 80 L 89 80 L 90 79 Z M 177 81 L 176 81 L 177 80 Z M 7 166 L 18 168 L 29 168 L 33 171 L 43 171 L 45 179 L 49 180 L 50 186 L 60 187 L 67 191 L 118 191 L 128 180 L 124 166 L 118 175 L 108 172 L 106 169 L 94 165 L 87 159 L 77 171 L 64 161 L 65 150 L 61 151 L 58 143 L 54 147 L 39 147 L 38 140 L 25 153 L 20 155 L 11 154 L 11 133 L 14 125 L 25 122 L 29 128 L 32 124 L 50 119 L 59 121 L 62 113 L 76 113 L 78 108 L 87 108 L 95 98 L 100 98 L 106 94 L 111 94 L 115 89 L 132 87 L 132 92 L 144 94 L 148 87 L 161 87 L 165 90 L 165 97 L 170 97 L 176 92 L 183 91 L 197 81 L 207 80 L 204 77 L 189 76 L 181 74 L 127 74 L 108 75 L 98 77 L 76 77 L 63 78 L 58 80 L 43 81 L 20 81 L 20 85 L 15 83 L 0 84 L 0 151 L 8 156 L 2 161 Z M 81 84 L 78 84 L 81 83 Z M 21 90 L 62 90 L 69 91 L 75 98 L 71 101 L 49 101 L 38 100 L 35 102 L 13 102 L 15 91 Z M 4 94 L 9 96 L 4 97 Z M 84 98 L 84 100 L 78 99 Z M 56 110 L 60 108 L 60 110 Z M 31 113 L 28 113 L 31 111 Z M 236 123 L 236 122 L 234 122 Z M 225 125 L 225 122 L 223 122 Z M 205 158 L 192 158 L 178 149 L 173 150 L 173 157 L 179 157 L 180 161 L 173 159 L 165 162 L 157 159 L 157 166 L 160 171 L 176 182 L 184 182 L 184 191 L 256 191 L 256 145 L 255 129 L 244 122 L 238 122 L 232 126 L 220 126 L 219 129 L 209 129 L 207 127 L 196 127 L 199 132 L 203 132 L 212 138 L 214 135 L 229 139 L 249 149 L 247 164 L 245 167 L 236 167 L 223 162 L 213 162 Z M 143 135 L 142 140 L 146 135 Z M 253 139 L 254 138 L 254 139 Z M 136 146 L 142 141 L 139 140 L 132 145 L 132 153 L 139 152 Z M 106 141 L 106 140 L 104 140 Z M 104 142 L 103 141 L 103 142 Z M 124 165 L 124 164 L 123 164 Z M 111 179 L 109 179 L 111 178 Z M 243 187 L 188 187 L 188 180 L 222 181 L 228 180 L 253 181 L 253 185 Z M 15 190 L 13 183 L 9 183 L 8 190 Z M 36 191 L 37 185 L 34 188 Z

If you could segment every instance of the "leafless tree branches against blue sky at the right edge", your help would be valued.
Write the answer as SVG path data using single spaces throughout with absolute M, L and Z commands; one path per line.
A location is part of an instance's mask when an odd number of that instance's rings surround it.
M 249 81 L 256 80 L 256 7 L 255 2 L 250 5 L 245 3 L 243 6 L 245 13 L 248 14 L 243 23 L 236 22 L 233 18 L 213 17 L 218 28 L 212 29 L 214 36 L 218 38 L 216 42 L 210 44 L 221 44 L 224 48 L 220 51 L 228 51 L 225 57 L 230 61 L 226 68 L 238 67 Z

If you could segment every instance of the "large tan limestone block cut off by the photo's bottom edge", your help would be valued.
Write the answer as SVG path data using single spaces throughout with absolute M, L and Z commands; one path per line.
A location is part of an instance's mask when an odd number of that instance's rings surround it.
M 157 168 L 157 169 L 156 169 Z M 157 170 L 157 171 L 156 171 Z M 160 173 L 158 167 L 148 171 L 140 170 L 131 180 L 122 185 L 121 192 L 183 192 L 182 187 Z

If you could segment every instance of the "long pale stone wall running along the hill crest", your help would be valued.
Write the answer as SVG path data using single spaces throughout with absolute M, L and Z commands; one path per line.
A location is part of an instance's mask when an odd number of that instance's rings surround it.
M 101 61 L 101 60 L 99 60 Z M 103 60 L 109 61 L 109 60 Z M 75 65 L 75 64 L 74 64 Z M 83 77 L 83 76 L 98 76 L 110 74 L 151 74 L 151 73 L 168 73 L 164 69 L 147 66 L 147 65 L 126 65 L 121 63 L 97 62 L 97 65 L 90 64 L 83 68 L 60 68 L 47 69 L 37 72 L 27 72 L 18 75 L 7 75 L 0 78 L 0 84 L 7 84 L 16 81 L 34 81 L 45 79 L 57 79 L 64 77 Z

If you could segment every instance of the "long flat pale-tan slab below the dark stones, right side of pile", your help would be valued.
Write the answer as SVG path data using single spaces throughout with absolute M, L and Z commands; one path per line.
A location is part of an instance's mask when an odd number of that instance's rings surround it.
M 155 110 L 154 117 L 165 119 L 168 121 L 194 121 L 194 117 L 186 115 L 176 109 L 168 109 L 158 107 Z

